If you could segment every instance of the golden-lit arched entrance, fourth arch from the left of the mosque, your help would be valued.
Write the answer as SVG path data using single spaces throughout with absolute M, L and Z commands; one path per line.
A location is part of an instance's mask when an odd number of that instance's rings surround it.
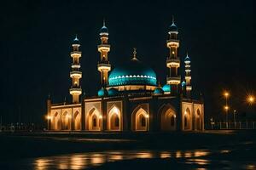
M 102 129 L 102 116 L 101 113 L 92 108 L 86 116 L 87 130 L 100 131 Z

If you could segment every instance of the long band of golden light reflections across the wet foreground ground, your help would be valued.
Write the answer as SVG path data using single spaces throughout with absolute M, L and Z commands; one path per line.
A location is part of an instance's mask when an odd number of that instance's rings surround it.
M 70 154 L 63 156 L 41 157 L 33 161 L 34 169 L 85 169 L 100 166 L 108 161 L 131 160 L 136 158 L 188 158 L 207 156 L 208 150 L 120 150 L 92 152 L 84 154 Z M 191 159 L 198 163 L 207 163 L 207 160 Z

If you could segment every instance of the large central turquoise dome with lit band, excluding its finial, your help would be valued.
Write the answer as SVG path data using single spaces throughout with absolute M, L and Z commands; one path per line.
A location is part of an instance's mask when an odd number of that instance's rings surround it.
M 156 86 L 156 75 L 152 68 L 144 65 L 138 59 L 131 59 L 124 65 L 119 65 L 110 72 L 109 86 L 120 85 L 151 85 Z

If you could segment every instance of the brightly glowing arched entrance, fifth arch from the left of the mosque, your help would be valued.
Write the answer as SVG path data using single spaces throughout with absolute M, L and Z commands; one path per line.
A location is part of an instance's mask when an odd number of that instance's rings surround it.
M 107 129 L 110 131 L 121 130 L 121 113 L 115 106 L 108 112 L 107 115 Z

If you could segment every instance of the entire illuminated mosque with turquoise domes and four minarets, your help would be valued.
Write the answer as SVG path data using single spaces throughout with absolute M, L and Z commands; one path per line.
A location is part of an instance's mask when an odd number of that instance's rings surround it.
M 75 37 L 70 54 L 73 63 L 70 78 L 72 103 L 52 104 L 47 100 L 49 130 L 83 132 L 173 132 L 204 130 L 204 103 L 191 94 L 190 58 L 184 57 L 184 77 L 180 75 L 178 29 L 172 20 L 166 47 L 166 83 L 157 83 L 156 73 L 137 59 L 134 49 L 132 59 L 112 67 L 108 28 L 103 23 L 101 43 L 97 46 L 100 60 L 101 86 L 96 96 L 83 96 L 79 59 L 82 52 Z M 163 57 L 164 59 L 164 57 Z

